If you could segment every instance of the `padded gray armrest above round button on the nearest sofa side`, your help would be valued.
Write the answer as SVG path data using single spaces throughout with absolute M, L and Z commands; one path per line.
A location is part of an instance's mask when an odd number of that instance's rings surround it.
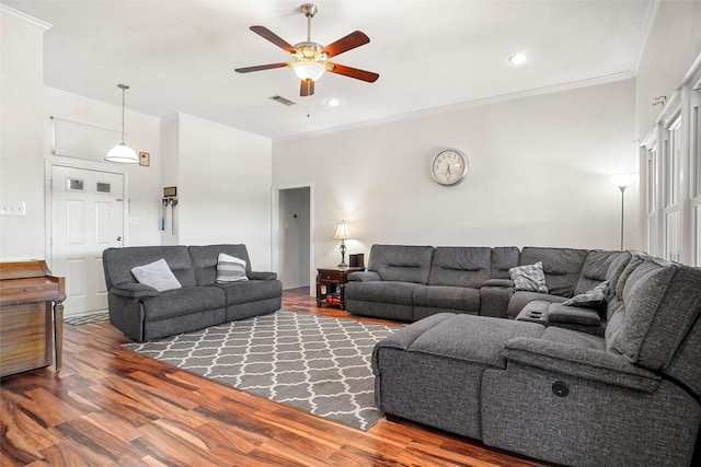
M 550 340 L 518 337 L 505 348 L 508 362 L 521 363 L 574 377 L 653 393 L 660 376 L 635 366 L 624 355 Z

